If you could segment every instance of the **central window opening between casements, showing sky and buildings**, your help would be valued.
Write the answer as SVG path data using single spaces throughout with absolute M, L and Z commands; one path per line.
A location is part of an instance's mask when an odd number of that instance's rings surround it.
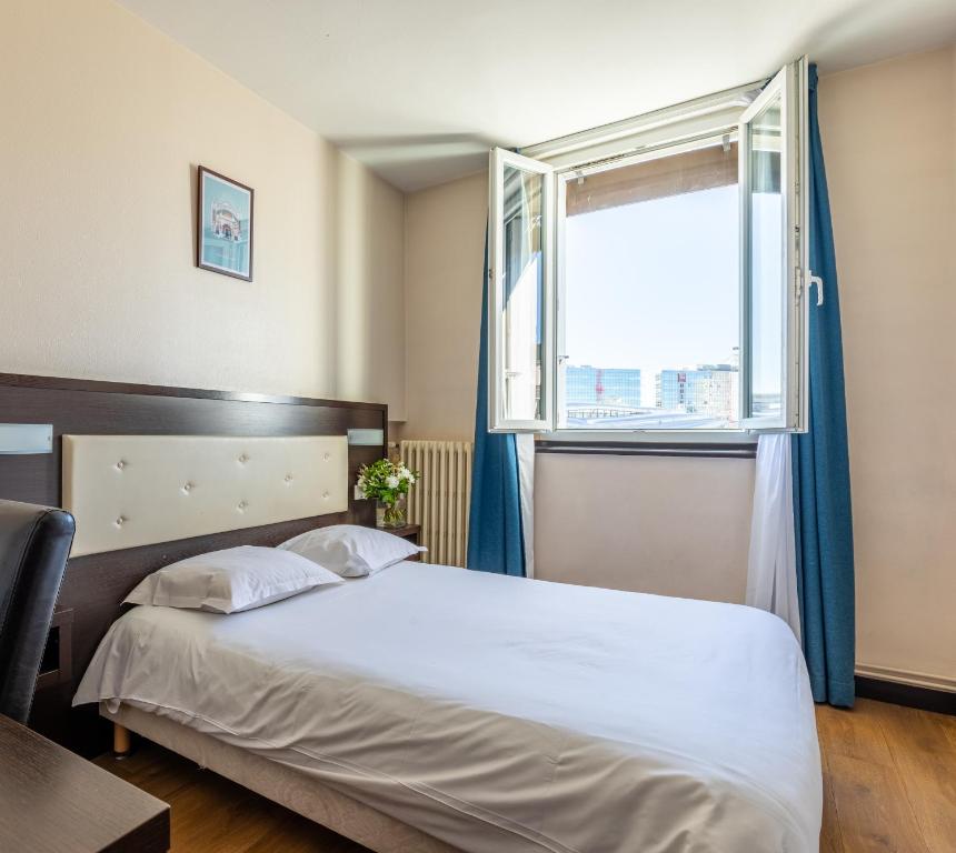
M 566 429 L 739 428 L 736 143 L 565 184 Z

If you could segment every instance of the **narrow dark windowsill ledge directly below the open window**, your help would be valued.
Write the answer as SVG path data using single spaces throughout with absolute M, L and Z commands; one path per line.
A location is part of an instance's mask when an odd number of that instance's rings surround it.
M 688 432 L 613 432 L 559 430 L 535 440 L 536 453 L 616 456 L 698 456 L 755 459 L 757 436 L 737 430 Z

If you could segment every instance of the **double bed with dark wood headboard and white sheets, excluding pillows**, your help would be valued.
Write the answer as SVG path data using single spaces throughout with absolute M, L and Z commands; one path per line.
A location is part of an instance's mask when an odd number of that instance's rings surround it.
M 106 717 L 378 853 L 817 850 L 813 704 L 775 616 L 418 563 L 123 614 L 182 558 L 372 523 L 351 484 L 386 408 L 0 374 L 0 409 L 54 435 L 0 456 L 0 496 L 77 518 L 67 665 L 32 717 L 56 740 L 98 754 Z

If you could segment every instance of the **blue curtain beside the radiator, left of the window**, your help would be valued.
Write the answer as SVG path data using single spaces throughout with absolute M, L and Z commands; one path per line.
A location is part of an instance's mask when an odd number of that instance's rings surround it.
M 488 432 L 487 233 L 484 278 L 467 566 L 479 572 L 524 576 L 525 543 L 518 486 L 518 450 L 512 434 Z

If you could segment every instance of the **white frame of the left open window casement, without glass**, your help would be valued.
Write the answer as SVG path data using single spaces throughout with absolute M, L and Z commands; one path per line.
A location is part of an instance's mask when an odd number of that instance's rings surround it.
M 504 305 L 505 305 L 505 167 L 540 174 L 541 180 L 541 418 L 508 418 L 505 412 Z M 491 149 L 489 181 L 488 253 L 488 431 L 550 432 L 555 422 L 555 170 L 529 157 Z

